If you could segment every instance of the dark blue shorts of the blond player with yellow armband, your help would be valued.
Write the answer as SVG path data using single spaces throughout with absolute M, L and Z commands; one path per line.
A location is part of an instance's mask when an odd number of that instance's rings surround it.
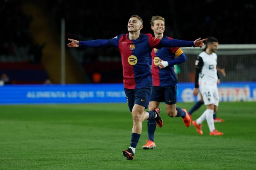
M 150 101 L 176 104 L 177 85 L 154 86 Z

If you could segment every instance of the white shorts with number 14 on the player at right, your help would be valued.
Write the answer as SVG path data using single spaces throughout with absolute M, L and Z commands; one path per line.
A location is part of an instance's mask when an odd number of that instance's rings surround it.
M 219 92 L 217 85 L 200 86 L 200 93 L 204 100 L 204 105 L 219 105 Z

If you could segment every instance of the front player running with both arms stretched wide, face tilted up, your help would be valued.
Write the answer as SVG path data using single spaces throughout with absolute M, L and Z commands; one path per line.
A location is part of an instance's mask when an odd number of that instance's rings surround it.
M 144 111 L 149 105 L 152 90 L 152 77 L 149 66 L 151 49 L 187 46 L 202 47 L 204 45 L 203 41 L 206 40 L 200 40 L 200 38 L 194 42 L 175 39 L 161 40 L 151 34 L 140 34 L 142 28 L 142 19 L 138 15 L 132 15 L 128 21 L 127 34 L 119 34 L 112 39 L 92 41 L 68 39 L 71 42 L 67 44 L 69 47 L 115 47 L 119 49 L 123 64 L 125 93 L 133 119 L 130 147 L 128 150 L 123 150 L 123 155 L 128 160 L 134 158 L 135 148 L 142 131 L 142 122 L 145 119 L 154 119 L 159 127 L 163 126 L 159 108 L 156 107 L 148 112 Z

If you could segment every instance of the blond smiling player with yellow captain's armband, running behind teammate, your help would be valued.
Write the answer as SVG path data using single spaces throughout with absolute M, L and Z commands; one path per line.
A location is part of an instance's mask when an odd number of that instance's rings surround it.
M 164 35 L 165 22 L 161 16 L 153 16 L 151 19 L 151 29 L 154 36 L 158 39 L 168 40 L 171 37 Z M 175 58 L 175 55 L 177 58 Z M 182 49 L 161 48 L 152 49 L 152 78 L 153 88 L 149 102 L 149 110 L 159 107 L 160 102 L 165 102 L 166 112 L 170 117 L 182 117 L 185 126 L 189 127 L 191 120 L 185 109 L 176 107 L 177 78 L 174 72 L 174 66 L 186 61 L 186 56 Z M 147 129 L 149 140 L 142 146 L 143 149 L 153 149 L 156 147 L 154 142 L 154 132 L 156 130 L 156 122 L 154 120 L 147 121 Z

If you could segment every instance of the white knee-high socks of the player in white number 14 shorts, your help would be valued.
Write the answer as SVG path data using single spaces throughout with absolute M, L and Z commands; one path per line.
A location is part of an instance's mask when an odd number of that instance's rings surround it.
M 204 113 L 198 119 L 196 119 L 196 124 L 202 124 L 205 119 L 207 121 L 210 132 L 214 131 L 215 127 L 213 121 L 213 110 L 206 109 Z

